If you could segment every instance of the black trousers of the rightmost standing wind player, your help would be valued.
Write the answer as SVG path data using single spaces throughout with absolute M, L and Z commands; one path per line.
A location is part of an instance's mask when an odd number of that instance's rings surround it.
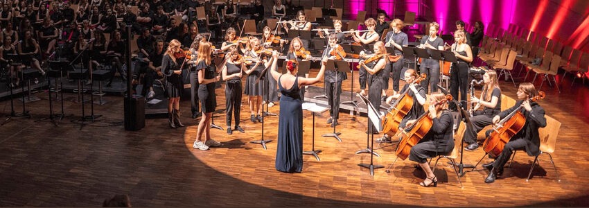
M 468 64 L 460 62 L 459 64 L 452 64 L 450 71 L 450 94 L 460 103 L 466 103 L 466 89 L 468 88 Z M 460 92 L 460 99 L 458 99 L 458 92 Z M 466 109 L 466 106 L 464 106 Z

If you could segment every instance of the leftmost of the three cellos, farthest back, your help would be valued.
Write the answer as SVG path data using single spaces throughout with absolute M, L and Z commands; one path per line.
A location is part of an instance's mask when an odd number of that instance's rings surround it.
M 421 73 L 421 76 L 413 80 L 411 84 L 419 83 L 425 79 L 425 73 Z M 409 92 L 410 88 L 407 87 L 405 91 L 399 96 L 399 98 L 389 107 L 387 114 L 383 119 L 383 132 L 393 137 L 399 128 L 399 123 L 405 118 L 407 113 L 413 107 L 413 98 L 411 96 L 405 96 Z

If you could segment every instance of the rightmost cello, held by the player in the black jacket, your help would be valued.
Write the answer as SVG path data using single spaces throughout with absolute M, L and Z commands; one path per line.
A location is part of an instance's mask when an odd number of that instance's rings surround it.
M 545 98 L 544 92 L 538 92 L 537 96 L 531 97 L 528 101 L 538 101 Z M 498 157 L 507 142 L 516 135 L 526 123 L 524 114 L 520 112 L 522 106 L 513 110 L 511 114 L 505 116 L 493 127 L 493 132 L 487 137 L 483 143 L 483 150 L 491 157 Z

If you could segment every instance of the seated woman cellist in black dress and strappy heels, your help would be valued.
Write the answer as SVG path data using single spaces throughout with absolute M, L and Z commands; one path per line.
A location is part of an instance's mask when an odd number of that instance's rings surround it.
M 454 149 L 454 138 L 452 137 L 454 120 L 448 111 L 448 104 L 435 105 L 443 100 L 446 100 L 446 95 L 441 92 L 431 94 L 428 109 L 430 112 L 427 116 L 432 119 L 432 128 L 423 139 L 419 140 L 419 143 L 411 148 L 409 153 L 409 159 L 417 162 L 425 172 L 425 180 L 419 183 L 423 187 L 430 187 L 430 185 L 436 187 L 438 182 L 430 164 L 428 164 L 428 158 L 448 154 Z M 415 122 L 415 120 L 407 121 L 407 126 Z

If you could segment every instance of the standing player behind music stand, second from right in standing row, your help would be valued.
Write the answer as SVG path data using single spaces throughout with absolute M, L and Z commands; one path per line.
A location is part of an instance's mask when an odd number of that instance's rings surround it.
M 437 22 L 434 21 L 430 23 L 430 35 L 421 38 L 421 44 L 419 44 L 419 47 L 422 49 L 443 50 L 443 40 L 437 36 L 439 29 L 440 25 L 437 24 Z M 427 76 L 425 80 L 421 82 L 421 87 L 425 89 L 425 92 L 429 92 L 428 85 L 430 86 L 432 92 L 437 92 L 437 85 L 440 82 L 439 61 L 429 58 L 423 59 L 423 61 L 421 61 L 421 65 L 419 66 L 419 73 L 425 73 L 425 76 Z

